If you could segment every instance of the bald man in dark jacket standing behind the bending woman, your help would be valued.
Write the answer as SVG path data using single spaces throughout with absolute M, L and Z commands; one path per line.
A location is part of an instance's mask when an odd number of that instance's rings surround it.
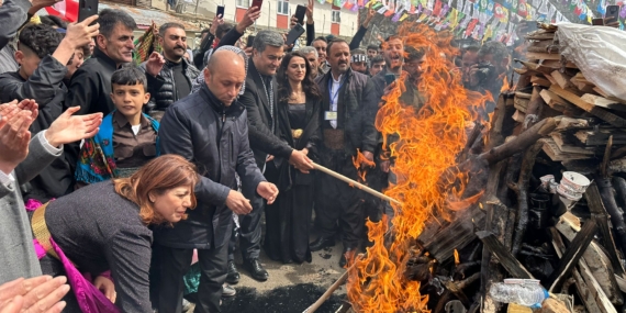
M 246 79 L 245 63 L 234 52 L 215 52 L 204 69 L 204 85 L 169 107 L 160 122 L 161 153 L 194 163 L 200 181 L 194 190 L 198 205 L 187 211 L 188 219 L 154 231 L 160 259 L 158 312 L 182 311 L 182 276 L 191 265 L 193 249 L 198 249 L 201 267 L 194 312 L 221 312 L 233 212 L 242 215 L 253 210 L 237 191 L 235 174 L 243 183 L 256 186 L 256 192 L 269 203 L 278 195 L 276 186 L 266 181 L 256 165 L 246 110 L 237 102 Z M 176 200 L 174 197 L 172 203 Z

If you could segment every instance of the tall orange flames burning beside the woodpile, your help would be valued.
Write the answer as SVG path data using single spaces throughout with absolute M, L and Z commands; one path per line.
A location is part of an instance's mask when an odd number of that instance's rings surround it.
M 469 105 L 482 105 L 485 99 L 469 94 L 460 75 L 451 70 L 455 66 L 450 59 L 457 51 L 450 46 L 449 33 L 418 24 L 413 29 L 405 25 L 400 36 L 405 38 L 405 46 L 426 51 L 428 69 L 420 79 L 418 90 L 427 100 L 418 111 L 400 101 L 404 74 L 399 87 L 385 96 L 387 104 L 376 120 L 383 138 L 390 134 L 400 138 L 390 146 L 398 185 L 384 193 L 403 205 L 392 204 L 394 238 L 388 247 L 387 216 L 379 223 L 367 222 L 368 237 L 375 244 L 366 257 L 355 260 L 348 279 L 348 298 L 359 313 L 429 312 L 428 297 L 420 293 L 420 282 L 404 277 L 412 256 L 410 246 L 431 215 L 449 217 L 450 210 L 466 209 L 479 198 L 461 197 L 469 176 L 455 168 L 457 154 L 467 141 L 466 125 L 476 120 Z

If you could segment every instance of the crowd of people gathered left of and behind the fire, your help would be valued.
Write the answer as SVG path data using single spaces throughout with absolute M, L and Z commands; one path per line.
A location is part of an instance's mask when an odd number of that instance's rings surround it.
M 402 77 L 403 103 L 425 105 L 427 51 L 394 35 L 360 48 L 375 11 L 351 42 L 315 37 L 310 0 L 297 51 L 271 31 L 241 45 L 259 8 L 236 25 L 215 16 L 191 53 L 166 23 L 163 52 L 134 64 L 126 12 L 34 16 L 55 2 L 0 7 L 0 312 L 182 312 L 190 281 L 195 312 L 220 312 L 237 247 L 258 281 L 271 279 L 261 249 L 302 264 L 340 241 L 345 267 L 369 244 L 366 220 L 393 215 L 314 170 L 362 182 L 369 169 L 383 190 L 396 177 L 375 126 L 382 99 Z M 503 44 L 455 58 L 467 89 L 507 88 Z

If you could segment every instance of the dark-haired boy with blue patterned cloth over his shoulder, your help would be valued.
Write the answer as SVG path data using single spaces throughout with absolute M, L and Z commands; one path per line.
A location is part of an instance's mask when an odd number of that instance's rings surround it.
M 146 75 L 134 66 L 118 69 L 111 89 L 115 110 L 80 149 L 75 175 L 79 186 L 128 177 L 159 154 L 159 124 L 142 111 L 150 99 Z

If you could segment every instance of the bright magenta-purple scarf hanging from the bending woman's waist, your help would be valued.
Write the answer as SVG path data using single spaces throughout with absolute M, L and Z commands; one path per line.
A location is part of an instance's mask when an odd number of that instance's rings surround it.
M 35 211 L 41 205 L 42 203 L 34 200 L 29 200 L 25 204 L 26 211 Z M 33 244 L 35 245 L 37 257 L 42 259 L 46 255 L 44 247 L 42 247 L 36 238 L 33 239 Z M 91 279 L 87 279 L 86 276 L 78 271 L 53 238 L 51 238 L 51 244 L 60 258 L 60 262 L 67 275 L 67 280 L 78 300 L 80 310 L 83 313 L 119 313 L 120 310 L 118 306 L 107 299 L 100 290 L 96 289 L 96 286 L 91 283 Z M 89 273 L 87 273 L 87 276 L 90 277 Z

